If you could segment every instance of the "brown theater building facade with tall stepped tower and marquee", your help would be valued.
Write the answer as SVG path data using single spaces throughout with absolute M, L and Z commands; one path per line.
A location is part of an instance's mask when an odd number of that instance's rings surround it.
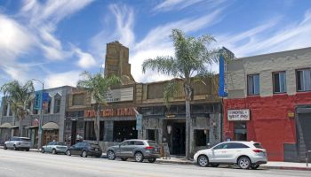
M 105 75 L 115 74 L 122 84 L 112 88 L 107 95 L 108 105 L 100 111 L 100 146 L 108 146 L 127 139 L 150 139 L 167 142 L 171 154 L 184 155 L 186 147 L 185 100 L 183 90 L 171 101 L 168 109 L 164 104 L 163 87 L 168 81 L 138 83 L 133 80 L 129 64 L 129 50 L 119 42 L 107 45 Z M 221 102 L 217 96 L 217 79 L 194 84 L 191 123 L 191 151 L 206 148 L 206 144 L 221 141 Z M 80 100 L 80 101 L 76 101 Z M 96 139 L 94 132 L 95 112 L 92 96 L 84 90 L 74 90 L 68 96 L 66 137 L 69 143 Z

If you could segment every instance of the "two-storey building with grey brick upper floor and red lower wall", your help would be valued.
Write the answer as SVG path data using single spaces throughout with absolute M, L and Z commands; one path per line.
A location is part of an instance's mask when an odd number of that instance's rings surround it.
M 268 160 L 303 161 L 311 150 L 311 48 L 227 64 L 225 139 L 262 142 Z

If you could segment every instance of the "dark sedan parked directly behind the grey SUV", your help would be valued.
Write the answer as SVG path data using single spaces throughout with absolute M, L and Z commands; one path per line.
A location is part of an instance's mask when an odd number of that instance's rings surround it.
M 100 158 L 102 150 L 99 144 L 92 142 L 77 142 L 75 145 L 68 148 L 66 151 L 68 156 L 80 155 L 81 157 L 87 158 L 88 156 L 95 156 Z

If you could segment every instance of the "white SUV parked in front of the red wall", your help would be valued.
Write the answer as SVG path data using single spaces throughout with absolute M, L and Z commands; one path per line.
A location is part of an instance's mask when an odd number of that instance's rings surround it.
M 259 142 L 220 142 L 211 149 L 197 151 L 194 158 L 200 166 L 237 164 L 243 169 L 257 169 L 267 164 L 267 150 Z

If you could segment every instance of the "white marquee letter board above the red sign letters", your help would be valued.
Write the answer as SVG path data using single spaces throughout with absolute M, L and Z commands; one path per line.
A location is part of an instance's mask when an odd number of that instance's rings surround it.
M 106 103 L 114 102 L 127 102 L 132 101 L 134 98 L 134 88 L 122 88 L 122 89 L 111 89 L 106 94 Z M 92 98 L 91 104 L 95 104 L 95 100 Z

